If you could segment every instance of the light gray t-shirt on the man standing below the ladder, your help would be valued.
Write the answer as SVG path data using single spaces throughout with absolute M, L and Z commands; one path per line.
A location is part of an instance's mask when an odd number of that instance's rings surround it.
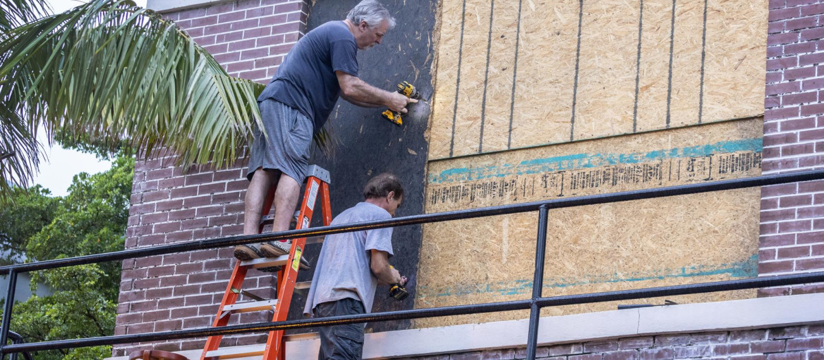
M 390 219 L 382 207 L 361 202 L 335 216 L 332 225 L 362 223 Z M 388 252 L 392 256 L 392 228 L 376 228 L 353 233 L 335 233 L 326 236 L 321 256 L 317 259 L 315 275 L 307 295 L 303 315 L 311 316 L 312 309 L 322 302 L 353 298 L 363 302 L 366 312 L 372 312 L 377 278 L 372 275 L 370 250 Z

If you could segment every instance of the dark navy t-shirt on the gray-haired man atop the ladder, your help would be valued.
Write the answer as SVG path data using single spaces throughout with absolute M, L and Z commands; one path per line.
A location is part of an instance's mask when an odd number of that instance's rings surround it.
M 335 72 L 358 76 L 357 55 L 358 44 L 344 21 L 320 25 L 289 50 L 258 101 L 275 99 L 297 108 L 318 132 L 340 95 Z

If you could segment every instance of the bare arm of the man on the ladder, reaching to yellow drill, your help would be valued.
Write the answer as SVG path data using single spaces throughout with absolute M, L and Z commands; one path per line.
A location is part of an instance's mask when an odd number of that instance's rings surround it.
M 418 102 L 418 100 L 407 98 L 400 93 L 378 89 L 367 84 L 358 76 L 352 76 L 346 72 L 337 71 L 335 75 L 338 76 L 340 91 L 343 93 L 344 99 L 358 106 L 367 104 L 365 107 L 377 108 L 383 105 L 392 111 L 406 113 L 406 104 Z

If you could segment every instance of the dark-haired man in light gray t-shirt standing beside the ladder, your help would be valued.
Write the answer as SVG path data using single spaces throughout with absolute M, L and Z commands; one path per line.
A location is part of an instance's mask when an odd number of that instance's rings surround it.
M 332 225 L 390 219 L 403 201 L 404 189 L 395 175 L 382 173 L 363 188 L 365 201 L 335 216 Z M 389 265 L 392 228 L 335 233 L 325 238 L 307 295 L 304 315 L 327 317 L 372 312 L 380 281 L 406 284 L 406 277 Z M 359 359 L 363 354 L 364 324 L 321 327 L 319 359 Z

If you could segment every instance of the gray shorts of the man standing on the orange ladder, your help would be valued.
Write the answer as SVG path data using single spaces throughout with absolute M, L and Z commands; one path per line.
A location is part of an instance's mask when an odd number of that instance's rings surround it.
M 298 184 L 303 183 L 314 125 L 296 108 L 274 99 L 259 101 L 258 107 L 266 137 L 255 127 L 246 178 L 251 181 L 257 168 L 265 168 L 279 170 Z

